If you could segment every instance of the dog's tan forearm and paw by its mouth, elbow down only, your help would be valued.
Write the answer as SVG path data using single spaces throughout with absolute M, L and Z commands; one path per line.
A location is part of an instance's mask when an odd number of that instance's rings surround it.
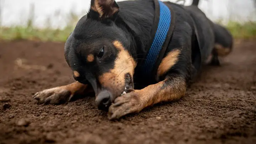
M 118 119 L 129 113 L 138 113 L 156 103 L 179 99 L 185 92 L 186 80 L 182 76 L 167 76 L 157 84 L 117 97 L 109 108 L 108 116 L 110 119 Z

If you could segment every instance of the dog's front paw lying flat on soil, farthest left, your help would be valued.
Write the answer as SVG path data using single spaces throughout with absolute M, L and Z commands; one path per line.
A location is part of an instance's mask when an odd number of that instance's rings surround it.
M 43 90 L 34 94 L 33 98 L 38 104 L 59 104 L 69 101 L 73 96 L 71 92 L 62 86 Z

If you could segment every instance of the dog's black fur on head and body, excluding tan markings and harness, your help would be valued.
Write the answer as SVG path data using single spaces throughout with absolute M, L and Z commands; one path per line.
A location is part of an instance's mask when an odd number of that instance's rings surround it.
M 228 41 L 225 41 L 224 28 L 210 21 L 198 9 L 198 2 L 196 3 L 196 6 L 182 6 L 166 2 L 166 5 L 175 12 L 176 18 L 173 36 L 165 55 L 175 49 L 181 50 L 181 54 L 178 62 L 161 76 L 160 80 L 164 80 L 166 76 L 170 78 L 179 76 L 190 84 L 212 53 L 216 42 L 232 47 L 230 36 L 227 37 Z M 115 40 L 122 42 L 130 55 L 139 63 L 140 58 L 146 54 L 146 46 L 150 40 L 155 14 L 153 0 L 122 1 L 117 4 L 119 11 L 107 18 L 98 18 L 97 12 L 90 10 L 79 20 L 65 45 L 66 61 L 72 70 L 80 73 L 75 79 L 84 84 L 91 84 L 96 95 L 102 88 L 98 76 L 110 71 L 117 57 L 118 50 L 111 42 Z M 102 47 L 105 47 L 105 54 L 98 59 L 97 53 Z M 92 63 L 86 62 L 86 57 L 90 53 L 93 53 L 95 58 Z M 135 69 L 135 89 L 157 82 L 140 79 L 139 73 L 140 71 Z M 167 81 L 165 86 L 171 85 L 171 81 L 172 79 Z

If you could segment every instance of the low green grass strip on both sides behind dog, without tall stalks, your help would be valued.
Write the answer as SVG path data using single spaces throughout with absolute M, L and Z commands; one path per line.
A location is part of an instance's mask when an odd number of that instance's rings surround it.
M 226 27 L 233 34 L 234 38 L 256 38 L 256 22 L 246 22 L 244 24 L 240 24 L 238 22 L 228 22 Z M 0 27 L 0 39 L 29 39 L 65 42 L 66 38 L 68 38 L 73 29 L 74 26 L 67 26 L 62 30 L 52 28 L 38 29 L 32 27 L 32 22 L 28 22 L 27 27 Z

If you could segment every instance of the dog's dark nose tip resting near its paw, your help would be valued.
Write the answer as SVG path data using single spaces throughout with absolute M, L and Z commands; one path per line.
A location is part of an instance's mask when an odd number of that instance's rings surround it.
M 111 93 L 106 90 L 101 91 L 96 97 L 95 102 L 100 110 L 108 111 L 108 107 L 111 105 Z

